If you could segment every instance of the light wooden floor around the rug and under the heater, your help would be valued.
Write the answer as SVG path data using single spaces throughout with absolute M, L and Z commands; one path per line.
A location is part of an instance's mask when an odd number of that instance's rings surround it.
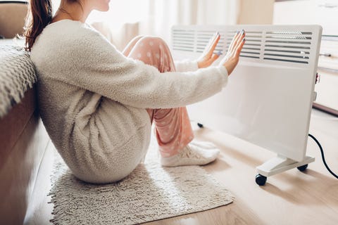
M 147 224 L 338 224 L 338 179 L 325 169 L 314 141 L 309 139 L 307 154 L 315 162 L 306 172 L 292 169 L 258 186 L 256 167 L 275 153 L 219 131 L 194 129 L 196 139 L 213 141 L 220 148 L 218 160 L 204 168 L 234 194 L 234 202 Z M 338 118 L 313 110 L 310 133 L 322 143 L 327 164 L 338 173 Z M 29 224 L 46 224 L 43 219 L 50 214 L 42 211 Z

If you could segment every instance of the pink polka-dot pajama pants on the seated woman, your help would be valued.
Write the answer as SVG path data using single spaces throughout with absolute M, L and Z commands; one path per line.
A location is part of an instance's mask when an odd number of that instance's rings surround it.
M 170 50 L 158 37 L 135 37 L 123 50 L 125 56 L 153 65 L 160 72 L 175 71 Z M 194 139 L 187 108 L 146 109 L 155 124 L 156 139 L 162 157 L 177 154 Z

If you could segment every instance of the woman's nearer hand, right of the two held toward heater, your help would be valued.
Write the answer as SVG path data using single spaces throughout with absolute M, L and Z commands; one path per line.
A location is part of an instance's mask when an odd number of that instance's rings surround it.
M 242 51 L 245 43 L 245 32 L 237 32 L 231 41 L 230 47 L 227 50 L 227 55 L 220 61 L 220 65 L 223 65 L 227 69 L 227 75 L 230 75 L 239 61 L 239 54 Z

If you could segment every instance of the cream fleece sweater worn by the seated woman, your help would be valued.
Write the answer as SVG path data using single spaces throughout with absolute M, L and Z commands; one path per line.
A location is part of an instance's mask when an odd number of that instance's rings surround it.
M 227 83 L 223 66 L 160 73 L 73 20 L 45 27 L 31 58 L 46 130 L 73 174 L 92 183 L 123 179 L 142 160 L 151 135 L 146 108 L 196 103 Z M 177 65 L 187 67 L 196 63 Z

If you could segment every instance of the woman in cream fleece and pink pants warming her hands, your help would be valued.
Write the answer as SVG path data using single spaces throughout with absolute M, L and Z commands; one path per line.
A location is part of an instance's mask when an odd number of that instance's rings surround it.
M 85 24 L 92 10 L 108 11 L 108 2 L 62 0 L 53 17 L 51 0 L 31 0 L 26 45 L 39 75 L 40 114 L 63 160 L 83 181 L 123 179 L 144 158 L 154 122 L 163 166 L 212 162 L 219 150 L 192 141 L 184 106 L 225 86 L 244 32 L 237 32 L 217 67 L 197 70 L 217 58 L 212 52 L 219 34 L 198 63 L 179 65 L 194 72 L 175 72 L 163 40 L 137 37 L 120 53 Z

